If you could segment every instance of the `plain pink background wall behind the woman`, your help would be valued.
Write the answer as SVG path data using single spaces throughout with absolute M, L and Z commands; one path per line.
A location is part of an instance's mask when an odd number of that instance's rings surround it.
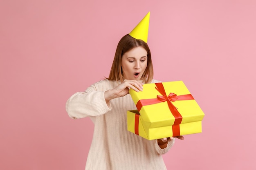
M 1 0 L 0 169 L 83 170 L 89 118 L 65 102 L 108 76 L 120 38 L 150 15 L 155 79 L 183 80 L 203 132 L 164 155 L 167 169 L 252 170 L 255 0 Z

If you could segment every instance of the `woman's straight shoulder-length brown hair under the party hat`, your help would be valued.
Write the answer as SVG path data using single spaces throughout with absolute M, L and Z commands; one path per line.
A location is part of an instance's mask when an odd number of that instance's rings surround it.
M 115 57 L 111 66 L 111 70 L 109 73 L 108 80 L 116 80 L 116 81 L 124 81 L 124 76 L 121 68 L 121 62 L 122 62 L 122 56 L 127 51 L 130 51 L 131 49 L 141 46 L 143 47 L 148 55 L 147 55 L 147 67 L 144 71 L 143 75 L 141 76 L 141 80 L 144 80 L 144 83 L 150 83 L 153 79 L 153 63 L 151 60 L 151 53 L 150 49 L 148 47 L 148 44 L 144 42 L 143 40 L 137 40 L 135 38 L 132 38 L 129 34 L 124 35 L 123 38 L 119 41 L 117 45 L 117 50 L 115 53 Z

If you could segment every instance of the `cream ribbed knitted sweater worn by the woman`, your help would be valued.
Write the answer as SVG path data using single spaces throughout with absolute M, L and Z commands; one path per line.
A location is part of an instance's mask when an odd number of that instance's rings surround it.
M 153 80 L 152 83 L 158 82 Z M 135 110 L 128 94 L 106 103 L 104 91 L 120 82 L 101 80 L 85 92 L 77 92 L 66 103 L 68 115 L 73 119 L 90 117 L 94 134 L 85 170 L 166 170 L 162 154 L 174 144 L 168 142 L 161 149 L 157 140 L 147 140 L 127 130 L 127 110 Z

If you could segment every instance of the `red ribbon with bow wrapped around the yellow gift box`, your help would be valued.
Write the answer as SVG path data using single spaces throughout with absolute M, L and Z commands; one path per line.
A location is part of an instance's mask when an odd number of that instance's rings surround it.
M 157 104 L 161 102 L 166 102 L 168 104 L 168 107 L 173 114 L 175 121 L 173 124 L 173 137 L 180 136 L 180 124 L 182 121 L 182 115 L 180 115 L 177 108 L 173 105 L 172 102 L 175 102 L 176 100 L 193 100 L 193 96 L 191 94 L 187 95 L 179 95 L 177 96 L 175 93 L 170 93 L 168 96 L 166 95 L 166 92 L 164 90 L 164 86 L 162 83 L 155 83 L 157 91 L 162 95 L 157 95 L 157 98 L 155 99 L 141 99 L 137 102 L 136 107 L 139 110 L 141 110 L 142 106 L 151 105 L 151 104 Z M 135 114 L 135 134 L 139 135 L 139 115 L 136 118 Z

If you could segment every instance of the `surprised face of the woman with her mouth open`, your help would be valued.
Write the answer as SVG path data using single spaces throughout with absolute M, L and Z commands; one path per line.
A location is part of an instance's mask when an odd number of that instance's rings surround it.
M 124 53 L 121 62 L 124 79 L 140 80 L 147 63 L 147 51 L 141 46 Z

